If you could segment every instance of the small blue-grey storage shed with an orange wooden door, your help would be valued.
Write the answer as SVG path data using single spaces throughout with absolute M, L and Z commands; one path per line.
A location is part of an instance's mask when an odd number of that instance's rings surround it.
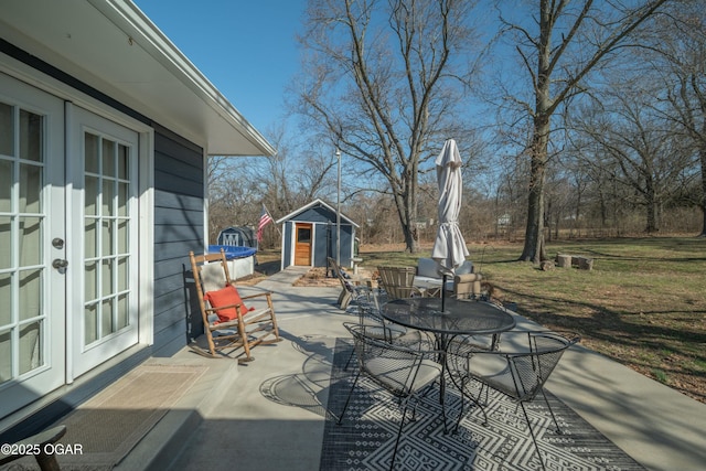
M 325 267 L 327 257 L 336 258 L 336 211 L 314 200 L 277 221 L 282 225 L 281 268 L 291 265 Z M 355 229 L 351 218 L 341 214 L 341 265 L 353 266 Z

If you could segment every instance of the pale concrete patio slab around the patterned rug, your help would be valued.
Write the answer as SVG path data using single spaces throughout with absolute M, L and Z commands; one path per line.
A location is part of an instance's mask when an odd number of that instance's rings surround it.
M 137 469 L 319 469 L 335 339 L 353 311 L 335 306 L 340 288 L 298 288 L 289 268 L 243 291 L 271 290 L 282 342 L 259 345 L 255 361 L 211 360 L 188 347 L 151 364 L 210 365 L 117 467 Z M 517 317 L 518 328 L 536 328 Z M 706 467 L 706 405 L 582 346 L 569 350 L 548 387 L 555 396 L 649 470 Z

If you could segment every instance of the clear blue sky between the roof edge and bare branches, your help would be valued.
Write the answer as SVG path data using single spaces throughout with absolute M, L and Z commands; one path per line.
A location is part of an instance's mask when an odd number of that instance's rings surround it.
M 307 0 L 132 0 L 255 128 L 285 119 Z

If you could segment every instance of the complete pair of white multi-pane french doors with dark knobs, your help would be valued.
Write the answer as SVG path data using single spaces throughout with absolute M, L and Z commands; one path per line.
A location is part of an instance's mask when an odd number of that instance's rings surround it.
M 138 343 L 138 149 L 0 72 L 0 418 Z

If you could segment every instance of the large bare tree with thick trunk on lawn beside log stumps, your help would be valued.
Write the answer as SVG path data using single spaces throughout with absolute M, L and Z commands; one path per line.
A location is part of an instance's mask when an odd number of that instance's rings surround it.
M 546 258 L 544 246 L 545 179 L 549 161 L 552 118 L 584 93 L 588 75 L 613 60 L 638 26 L 668 0 L 611 1 L 539 0 L 536 14 L 517 9 L 503 13 L 515 49 L 532 83 L 532 99 L 513 98 L 532 120 L 527 144 L 531 169 L 525 244 L 521 260 Z M 509 3 L 499 3 L 507 7 Z M 532 20 L 526 20 L 532 19 Z

